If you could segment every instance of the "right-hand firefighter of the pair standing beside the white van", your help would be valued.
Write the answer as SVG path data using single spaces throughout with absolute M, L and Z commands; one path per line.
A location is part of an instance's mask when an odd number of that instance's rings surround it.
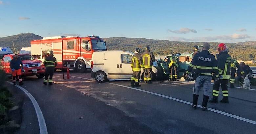
M 144 82 L 151 84 L 151 74 L 153 62 L 155 61 L 155 56 L 152 52 L 150 52 L 150 48 L 147 46 L 146 51 L 142 54 L 143 64 L 145 66 L 144 69 Z

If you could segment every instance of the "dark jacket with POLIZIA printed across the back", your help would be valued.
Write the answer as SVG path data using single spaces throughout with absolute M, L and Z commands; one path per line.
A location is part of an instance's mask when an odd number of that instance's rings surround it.
M 186 73 L 191 73 L 195 66 L 197 75 L 212 76 L 212 73 L 214 72 L 215 77 L 219 77 L 218 63 L 214 55 L 210 54 L 207 50 L 203 50 L 194 56 Z

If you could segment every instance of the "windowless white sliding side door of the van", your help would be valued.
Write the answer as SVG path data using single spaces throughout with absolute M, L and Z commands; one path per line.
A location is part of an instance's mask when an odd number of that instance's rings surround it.
M 104 71 L 108 79 L 120 79 L 119 52 L 105 52 Z

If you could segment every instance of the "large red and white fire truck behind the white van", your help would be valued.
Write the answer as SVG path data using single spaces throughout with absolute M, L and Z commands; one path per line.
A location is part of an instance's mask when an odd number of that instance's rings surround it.
M 91 68 L 93 52 L 105 51 L 107 48 L 106 42 L 98 36 L 55 36 L 31 41 L 31 55 L 35 58 L 43 61 L 50 50 L 58 61 L 55 69 L 64 71 L 69 67 L 77 72 L 85 72 Z

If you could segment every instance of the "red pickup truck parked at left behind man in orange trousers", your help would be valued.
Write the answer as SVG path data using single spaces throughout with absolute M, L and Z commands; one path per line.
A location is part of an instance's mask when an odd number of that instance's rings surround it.
M 9 74 L 11 74 L 10 62 L 13 56 L 14 54 L 5 55 L 2 61 L 5 72 Z M 36 75 L 38 78 L 44 77 L 45 67 L 42 61 L 35 59 L 30 54 L 19 54 L 19 58 L 21 58 L 25 70 L 21 73 L 22 76 Z

